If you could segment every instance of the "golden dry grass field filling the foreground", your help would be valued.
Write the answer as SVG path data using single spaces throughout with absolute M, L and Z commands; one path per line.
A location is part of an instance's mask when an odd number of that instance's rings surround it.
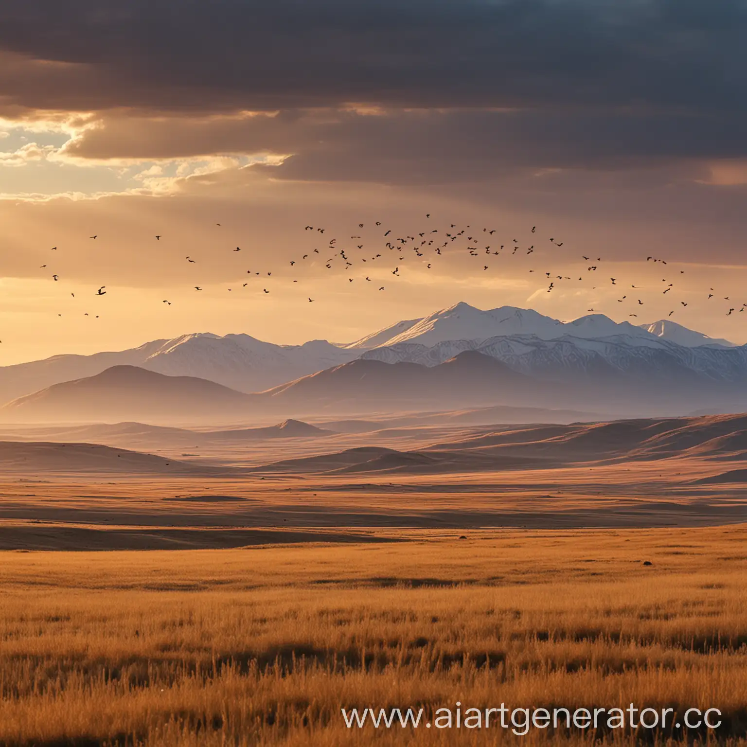
M 1 554 L 0 743 L 518 740 L 498 729 L 348 731 L 340 716 L 457 700 L 713 706 L 725 714 L 717 738 L 747 742 L 746 527 L 403 539 Z M 518 741 L 542 740 L 593 741 L 540 731 Z

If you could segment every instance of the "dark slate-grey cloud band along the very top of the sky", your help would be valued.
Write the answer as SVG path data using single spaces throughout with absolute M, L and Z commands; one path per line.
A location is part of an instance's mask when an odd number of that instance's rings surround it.
M 743 111 L 741 0 L 5 0 L 0 49 L 93 69 L 32 107 Z M 60 76 L 64 78 L 64 71 Z M 80 86 L 87 85 L 87 88 Z

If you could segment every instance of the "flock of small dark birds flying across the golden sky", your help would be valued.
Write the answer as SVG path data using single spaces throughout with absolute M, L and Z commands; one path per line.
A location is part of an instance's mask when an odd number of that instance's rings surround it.
M 220 223 L 215 224 L 220 227 Z M 565 241 L 558 240 L 555 236 L 540 235 L 537 226 L 531 226 L 527 229 L 526 235 L 522 238 L 512 238 L 504 244 L 499 243 L 496 238 L 498 229 L 481 226 L 471 227 L 470 225 L 460 226 L 457 223 L 444 223 L 437 225 L 432 220 L 431 214 L 425 214 L 421 230 L 403 235 L 396 235 L 394 229 L 385 226 L 382 221 L 376 220 L 373 223 L 358 223 L 354 226 L 352 232 L 346 232 L 344 236 L 332 236 L 330 232 L 319 226 L 304 226 L 303 232 L 307 238 L 313 237 L 314 246 L 297 255 L 296 258 L 288 261 L 285 265 L 285 271 L 278 271 L 278 267 L 272 269 L 256 266 L 246 269 L 244 273 L 244 282 L 232 284 L 227 291 L 232 292 L 239 287 L 252 288 L 256 285 L 256 291 L 263 295 L 272 292 L 273 282 L 302 283 L 318 270 L 332 273 L 332 276 L 338 276 L 341 282 L 348 285 L 356 283 L 358 285 L 371 284 L 371 288 L 377 288 L 377 292 L 386 291 L 389 282 L 397 282 L 412 270 L 428 272 L 436 268 L 439 263 L 449 260 L 467 262 L 472 265 L 469 270 L 477 270 L 478 273 L 488 273 L 490 270 L 502 269 L 503 261 L 512 261 L 512 258 L 524 257 L 530 258 L 528 264 L 536 264 L 534 267 L 514 266 L 511 275 L 516 276 L 517 272 L 525 271 L 537 279 L 543 278 L 546 285 L 547 293 L 553 293 L 559 288 L 567 285 L 577 285 L 581 283 L 584 288 L 597 290 L 605 286 L 616 286 L 620 288 L 620 297 L 616 299 L 617 303 L 627 305 L 626 311 L 628 316 L 637 317 L 637 311 L 640 307 L 651 303 L 650 279 L 644 289 L 642 285 L 635 285 L 623 282 L 617 277 L 605 277 L 604 260 L 601 257 L 591 255 L 580 255 L 576 261 L 568 255 L 568 249 L 565 249 L 561 257 L 560 249 L 565 245 Z M 160 242 L 164 235 L 155 235 L 155 241 Z M 91 241 L 96 241 L 98 234 L 90 236 Z M 549 251 L 548 251 L 549 249 Z M 58 247 L 52 247 L 51 251 L 58 251 Z M 241 252 L 241 247 L 227 249 L 237 253 Z M 244 256 L 244 255 L 240 255 Z M 506 260 L 504 260 L 506 258 Z M 264 258 L 267 260 L 267 257 Z M 196 270 L 202 262 L 202 258 L 195 258 L 187 255 L 184 258 L 187 264 L 195 265 Z M 539 263 L 545 264 L 542 267 Z M 672 299 L 669 317 L 672 317 L 676 311 L 685 309 L 690 301 L 675 298 L 678 295 L 678 285 L 675 281 L 681 279 L 684 270 L 669 269 L 666 259 L 654 256 L 648 256 L 646 263 L 649 265 L 661 265 L 661 275 L 666 275 L 660 280 L 658 293 Z M 527 264 L 525 261 L 524 264 Z M 562 264 L 563 269 L 548 269 L 550 264 Z M 41 265 L 47 268 L 47 264 Z M 574 270 L 569 270 L 574 267 Z M 666 267 L 666 269 L 665 269 Z M 448 273 L 453 274 L 453 264 L 450 267 L 444 267 Z M 382 278 L 389 278 L 388 281 Z M 59 272 L 52 273 L 52 280 L 59 282 L 61 275 Z M 417 278 L 415 278 L 417 279 Z M 261 281 L 261 282 L 257 282 Z M 629 286 L 629 287 L 628 287 Z M 205 289 L 204 285 L 193 285 L 193 291 L 200 293 Z M 635 292 L 633 292 L 635 291 Z M 93 295 L 103 297 L 107 294 L 107 286 L 101 285 Z M 671 294 L 671 295 L 670 295 Z M 75 294 L 70 294 L 75 298 Z M 692 294 L 686 296 L 692 299 Z M 308 303 L 314 303 L 315 299 L 306 296 Z M 645 299 L 645 300 L 644 300 Z M 716 303 L 722 299 L 728 304 L 724 306 L 723 311 L 727 316 L 731 316 L 735 311 L 743 312 L 747 308 L 747 303 L 741 306 L 732 305 L 729 296 L 717 294 L 713 288 L 709 288 L 704 294 L 704 300 L 711 301 L 716 299 Z M 171 306 L 171 301 L 164 299 L 162 303 Z M 633 310 L 630 310 L 633 309 Z M 595 309 L 587 309 L 593 312 Z M 99 314 L 90 314 L 84 311 L 84 316 L 99 318 Z M 62 314 L 58 314 L 62 316 Z

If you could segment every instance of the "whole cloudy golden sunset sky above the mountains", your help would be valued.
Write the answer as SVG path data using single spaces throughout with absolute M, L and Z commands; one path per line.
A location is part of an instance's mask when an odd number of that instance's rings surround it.
M 736 0 L 4 0 L 0 365 L 459 301 L 747 343 L 746 34 Z

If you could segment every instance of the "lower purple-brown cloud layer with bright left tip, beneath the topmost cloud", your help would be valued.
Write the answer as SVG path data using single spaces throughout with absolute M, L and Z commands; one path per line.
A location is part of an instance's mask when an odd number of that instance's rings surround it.
M 102 159 L 290 155 L 285 179 L 484 181 L 517 170 L 676 167 L 747 156 L 745 117 L 570 111 L 281 111 L 249 117 L 104 117 L 66 146 Z M 695 164 L 696 170 L 702 167 Z M 697 176 L 707 176 L 698 172 Z

